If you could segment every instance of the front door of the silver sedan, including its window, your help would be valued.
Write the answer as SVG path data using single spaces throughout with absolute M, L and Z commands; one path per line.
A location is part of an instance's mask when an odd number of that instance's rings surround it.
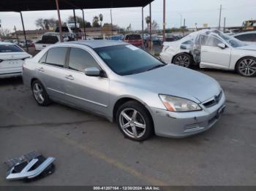
M 69 78 L 65 82 L 65 92 L 71 104 L 105 115 L 109 104 L 109 79 L 86 76 L 86 68 L 102 69 L 89 51 L 78 47 L 70 48 Z

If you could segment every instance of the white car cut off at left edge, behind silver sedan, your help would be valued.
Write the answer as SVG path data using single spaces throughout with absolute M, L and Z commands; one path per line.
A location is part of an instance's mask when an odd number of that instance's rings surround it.
M 0 78 L 21 76 L 26 58 L 31 58 L 31 55 L 17 45 L 0 42 Z

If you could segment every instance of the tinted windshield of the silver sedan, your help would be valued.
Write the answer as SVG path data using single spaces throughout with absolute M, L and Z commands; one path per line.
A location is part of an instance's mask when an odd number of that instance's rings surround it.
M 99 47 L 94 50 L 110 69 L 121 76 L 138 74 L 165 66 L 165 63 L 154 56 L 130 44 Z

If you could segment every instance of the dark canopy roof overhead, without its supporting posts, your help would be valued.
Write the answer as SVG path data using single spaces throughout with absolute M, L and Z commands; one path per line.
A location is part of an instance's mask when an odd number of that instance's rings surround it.
M 154 0 L 59 0 L 59 9 L 145 7 Z M 1 0 L 0 12 L 56 10 L 54 0 Z

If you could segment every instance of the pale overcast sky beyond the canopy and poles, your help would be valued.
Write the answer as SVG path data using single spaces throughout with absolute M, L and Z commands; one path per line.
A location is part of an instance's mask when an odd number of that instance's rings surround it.
M 219 6 L 222 4 L 222 26 L 226 17 L 226 26 L 241 26 L 244 20 L 256 19 L 256 0 L 166 0 L 166 27 L 180 27 L 184 18 L 186 26 L 194 28 L 202 27 L 203 23 L 215 27 L 219 23 Z M 85 20 L 91 22 L 95 15 L 102 13 L 103 23 L 110 23 L 110 9 L 84 9 Z M 163 23 L 163 0 L 154 0 L 151 4 L 152 20 L 156 20 L 159 28 Z M 61 20 L 67 22 L 72 10 L 61 10 Z M 76 10 L 76 15 L 82 17 L 81 10 Z M 141 29 L 141 8 L 112 9 L 113 24 L 121 28 L 127 28 L 129 23 L 132 30 Z M 145 17 L 149 15 L 149 6 L 144 8 Z M 23 20 L 26 30 L 37 29 L 35 20 L 37 18 L 56 18 L 56 11 L 23 12 Z M 20 14 L 18 12 L 0 12 L 1 27 L 13 31 L 14 26 L 22 29 Z M 146 26 L 146 23 L 144 24 Z

